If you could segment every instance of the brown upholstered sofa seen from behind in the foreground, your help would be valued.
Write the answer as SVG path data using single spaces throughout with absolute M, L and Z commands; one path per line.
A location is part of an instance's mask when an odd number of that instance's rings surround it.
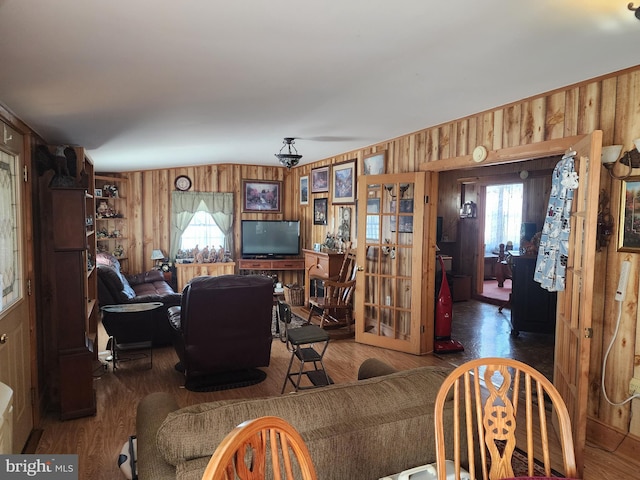
M 152 393 L 137 409 L 138 478 L 199 480 L 235 426 L 266 415 L 282 417 L 300 432 L 319 480 L 375 480 L 435 462 L 434 400 L 450 371 L 397 372 L 368 359 L 357 381 L 283 396 L 179 408 L 173 395 Z M 445 425 L 453 428 L 450 407 Z

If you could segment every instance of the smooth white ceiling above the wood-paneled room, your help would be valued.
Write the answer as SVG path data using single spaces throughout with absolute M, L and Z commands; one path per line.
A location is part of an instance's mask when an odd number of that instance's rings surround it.
M 0 0 L 0 103 L 100 171 L 302 164 L 640 63 L 626 0 Z

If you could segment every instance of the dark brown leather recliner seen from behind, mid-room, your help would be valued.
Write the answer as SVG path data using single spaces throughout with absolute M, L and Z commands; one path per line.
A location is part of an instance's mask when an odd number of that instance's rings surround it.
M 273 280 L 261 275 L 196 277 L 169 308 L 173 343 L 186 379 L 267 367 Z

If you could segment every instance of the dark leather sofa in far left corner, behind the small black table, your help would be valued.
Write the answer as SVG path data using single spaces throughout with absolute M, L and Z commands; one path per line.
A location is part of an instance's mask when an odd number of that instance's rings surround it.
M 162 272 L 150 270 L 126 276 L 120 269 L 120 261 L 105 252 L 96 254 L 96 266 L 100 307 L 121 303 L 162 302 L 163 307 L 153 312 L 155 327 L 153 345 L 170 345 L 171 329 L 167 319 L 167 309 L 180 305 L 182 295 L 176 293 L 164 280 Z

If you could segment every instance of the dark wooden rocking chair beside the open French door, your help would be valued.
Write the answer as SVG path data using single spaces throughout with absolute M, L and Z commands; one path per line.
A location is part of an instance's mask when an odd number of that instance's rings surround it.
M 353 305 L 351 298 L 356 285 L 356 256 L 355 251 L 348 248 L 337 277 L 322 281 L 324 292 L 318 294 L 317 285 L 312 295 L 309 296 L 309 317 L 315 311 L 321 311 L 320 328 L 347 327 L 351 331 L 353 324 Z

